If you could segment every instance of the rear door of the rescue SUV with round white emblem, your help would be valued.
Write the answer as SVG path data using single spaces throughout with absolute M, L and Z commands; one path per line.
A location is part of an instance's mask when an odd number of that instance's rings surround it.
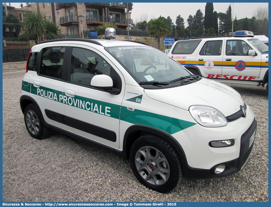
M 196 57 L 204 75 L 209 78 L 219 78 L 222 75 L 223 40 L 206 41 Z M 203 74 L 202 74 L 203 75 Z

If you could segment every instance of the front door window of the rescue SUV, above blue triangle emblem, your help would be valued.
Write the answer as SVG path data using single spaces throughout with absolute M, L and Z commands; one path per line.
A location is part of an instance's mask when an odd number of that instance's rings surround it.
M 226 55 L 247 56 L 247 51 L 252 48 L 242 40 L 227 40 Z

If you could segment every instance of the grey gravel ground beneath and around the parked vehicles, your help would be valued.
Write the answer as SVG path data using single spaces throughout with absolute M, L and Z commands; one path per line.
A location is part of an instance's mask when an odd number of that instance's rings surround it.
M 52 132 L 36 140 L 25 129 L 22 77 L 3 79 L 3 201 L 268 201 L 268 95 L 257 86 L 230 85 L 258 122 L 246 166 L 229 177 L 187 180 L 162 194 L 141 185 L 127 160 Z

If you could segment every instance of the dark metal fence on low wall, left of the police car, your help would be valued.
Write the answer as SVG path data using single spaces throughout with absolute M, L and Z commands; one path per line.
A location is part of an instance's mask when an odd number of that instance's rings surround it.
M 29 49 L 3 49 L 3 63 L 27 61 Z

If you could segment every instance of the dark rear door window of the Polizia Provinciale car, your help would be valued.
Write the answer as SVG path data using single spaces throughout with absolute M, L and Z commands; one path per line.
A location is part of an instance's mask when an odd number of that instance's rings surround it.
M 65 47 L 43 49 L 40 74 L 61 79 Z

